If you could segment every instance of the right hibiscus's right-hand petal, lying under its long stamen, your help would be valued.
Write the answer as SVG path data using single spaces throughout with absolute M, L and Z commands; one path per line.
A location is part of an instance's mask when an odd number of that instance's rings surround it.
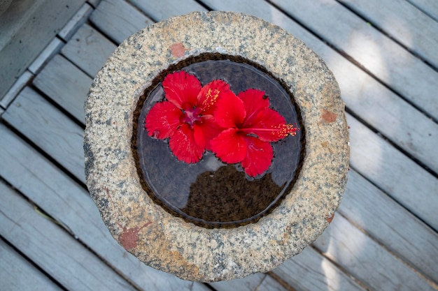
M 257 135 L 264 142 L 276 142 L 288 136 L 284 131 L 284 117 L 271 108 L 260 110 L 252 119 L 252 124 L 243 123 L 243 132 Z

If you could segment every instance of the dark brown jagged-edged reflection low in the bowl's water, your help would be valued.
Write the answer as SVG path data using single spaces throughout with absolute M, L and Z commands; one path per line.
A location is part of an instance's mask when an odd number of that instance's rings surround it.
M 245 221 L 267 209 L 283 186 L 272 181 L 271 173 L 248 181 L 245 172 L 227 165 L 216 172 L 199 174 L 190 186 L 187 205 L 181 210 L 204 221 Z

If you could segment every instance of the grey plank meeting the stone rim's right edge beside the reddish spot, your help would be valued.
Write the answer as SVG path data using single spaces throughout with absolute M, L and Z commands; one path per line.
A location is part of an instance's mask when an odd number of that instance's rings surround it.
M 438 231 L 438 180 L 350 114 L 347 120 L 351 167 Z

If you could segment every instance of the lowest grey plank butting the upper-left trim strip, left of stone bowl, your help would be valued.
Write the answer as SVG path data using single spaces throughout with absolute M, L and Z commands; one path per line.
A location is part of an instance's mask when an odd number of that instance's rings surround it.
M 29 87 L 23 89 L 2 116 L 85 183 L 83 129 L 78 124 Z

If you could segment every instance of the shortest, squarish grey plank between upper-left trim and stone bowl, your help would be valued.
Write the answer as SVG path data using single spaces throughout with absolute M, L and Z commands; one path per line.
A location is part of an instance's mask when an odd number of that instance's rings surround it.
M 104 66 L 115 50 L 115 45 L 99 31 L 83 24 L 69 42 L 62 47 L 62 54 L 90 77 Z

